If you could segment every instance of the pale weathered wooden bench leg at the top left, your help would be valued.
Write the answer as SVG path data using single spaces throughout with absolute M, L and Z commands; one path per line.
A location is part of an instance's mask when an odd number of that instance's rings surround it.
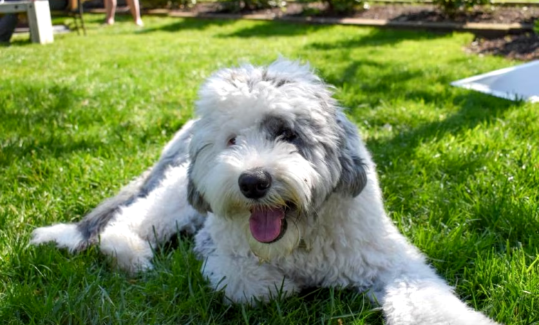
M 52 43 L 53 23 L 50 20 L 50 8 L 47 0 L 36 0 L 28 4 L 28 25 L 30 25 L 30 38 L 39 44 Z

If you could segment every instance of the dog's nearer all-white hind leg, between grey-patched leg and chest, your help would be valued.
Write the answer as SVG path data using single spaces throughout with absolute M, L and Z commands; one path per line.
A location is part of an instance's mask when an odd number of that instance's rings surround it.
M 196 232 L 203 220 L 187 203 L 187 165 L 171 167 L 148 196 L 120 208 L 100 234 L 99 247 L 128 272 L 146 270 L 158 243 L 177 232 Z

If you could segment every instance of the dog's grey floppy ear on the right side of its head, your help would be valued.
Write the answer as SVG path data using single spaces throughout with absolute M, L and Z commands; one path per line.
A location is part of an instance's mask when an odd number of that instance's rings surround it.
M 335 192 L 358 196 L 367 185 L 367 172 L 363 160 L 359 157 L 359 135 L 357 127 L 346 118 L 342 112 L 337 112 L 337 124 L 339 125 L 339 163 L 341 164 L 341 176 L 335 187 Z

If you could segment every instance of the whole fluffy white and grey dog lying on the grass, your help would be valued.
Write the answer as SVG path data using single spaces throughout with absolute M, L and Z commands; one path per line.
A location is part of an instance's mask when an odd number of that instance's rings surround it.
M 395 228 L 357 128 L 309 66 L 226 68 L 199 95 L 198 119 L 149 171 L 79 223 L 36 229 L 32 243 L 98 245 L 138 272 L 158 243 L 187 231 L 231 301 L 348 287 L 379 302 L 388 324 L 495 324 Z

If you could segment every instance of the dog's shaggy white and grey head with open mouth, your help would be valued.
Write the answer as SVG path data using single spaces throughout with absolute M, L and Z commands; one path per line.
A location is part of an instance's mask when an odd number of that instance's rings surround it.
M 355 127 L 308 66 L 219 71 L 197 111 L 189 202 L 238 222 L 261 259 L 292 252 L 332 193 L 366 184 Z

